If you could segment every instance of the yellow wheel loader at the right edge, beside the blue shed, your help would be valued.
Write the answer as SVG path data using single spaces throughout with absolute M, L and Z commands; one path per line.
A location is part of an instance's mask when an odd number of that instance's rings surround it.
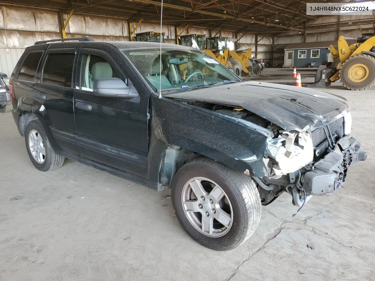
M 325 83 L 341 80 L 349 90 L 366 90 L 375 84 L 375 30 L 364 33 L 357 42 L 348 45 L 344 36 L 338 39 L 338 49 L 329 46 L 333 63 L 321 65 L 315 76 L 315 82 L 322 79 L 322 71 L 326 73 Z M 326 69 L 327 68 L 327 69 Z

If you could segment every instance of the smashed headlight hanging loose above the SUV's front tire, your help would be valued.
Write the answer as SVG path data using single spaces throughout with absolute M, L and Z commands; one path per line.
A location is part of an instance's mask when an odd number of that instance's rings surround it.
M 281 131 L 277 139 L 267 145 L 270 158 L 273 158 L 273 176 L 295 172 L 309 164 L 314 158 L 311 136 L 304 132 Z

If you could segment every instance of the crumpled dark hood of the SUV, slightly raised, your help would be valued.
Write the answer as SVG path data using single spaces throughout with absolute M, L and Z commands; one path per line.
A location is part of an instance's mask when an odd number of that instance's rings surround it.
M 165 97 L 239 106 L 288 131 L 320 127 L 342 111 L 349 111 L 344 97 L 309 88 L 255 81 L 223 84 Z

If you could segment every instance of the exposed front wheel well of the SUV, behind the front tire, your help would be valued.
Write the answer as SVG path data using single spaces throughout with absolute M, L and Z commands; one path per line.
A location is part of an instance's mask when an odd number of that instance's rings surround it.
M 184 164 L 198 157 L 202 157 L 202 154 L 181 146 L 167 145 L 160 161 L 159 182 L 166 188 L 170 188 L 175 173 Z

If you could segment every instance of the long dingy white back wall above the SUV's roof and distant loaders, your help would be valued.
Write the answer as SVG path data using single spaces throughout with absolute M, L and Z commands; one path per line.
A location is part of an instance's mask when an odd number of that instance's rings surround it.
M 62 16 L 66 21 L 68 14 Z M 135 27 L 136 22 L 131 24 Z M 184 26 L 178 28 L 183 30 Z M 135 33 L 158 30 L 160 30 L 158 23 L 142 22 Z M 162 31 L 168 36 L 168 43 L 175 42 L 176 34 L 173 25 L 164 24 Z M 183 34 L 186 33 L 187 30 Z M 203 33 L 208 36 L 209 30 L 189 27 L 189 33 Z M 212 34 L 216 33 L 219 34 L 219 30 L 212 30 Z M 231 42 L 237 41 L 232 31 L 222 30 L 221 35 L 228 37 Z M 66 37 L 83 36 L 101 41 L 127 41 L 129 40 L 127 19 L 73 14 L 66 27 Z M 10 75 L 23 49 L 27 46 L 34 45 L 36 41 L 57 38 L 61 38 L 57 12 L 0 6 L 1 72 Z M 239 49 L 251 48 L 253 52 L 255 51 L 254 34 L 245 34 L 238 43 Z M 258 58 L 269 58 L 271 43 L 270 36 L 263 37 L 258 43 Z

